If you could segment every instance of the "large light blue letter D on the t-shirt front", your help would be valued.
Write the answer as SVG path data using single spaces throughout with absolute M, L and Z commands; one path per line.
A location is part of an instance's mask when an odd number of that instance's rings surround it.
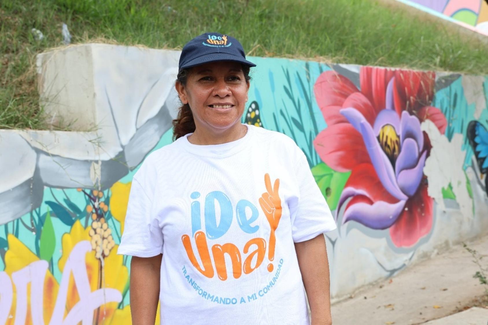
M 220 223 L 217 226 L 217 216 L 215 212 L 215 200 L 220 206 Z M 209 239 L 222 237 L 230 228 L 232 223 L 232 203 L 229 198 L 221 191 L 208 193 L 205 198 L 205 230 Z

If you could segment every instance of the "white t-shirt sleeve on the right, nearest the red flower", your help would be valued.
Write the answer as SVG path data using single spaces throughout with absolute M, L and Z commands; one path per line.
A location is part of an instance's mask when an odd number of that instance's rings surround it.
M 293 242 L 305 242 L 337 228 L 327 202 L 315 182 L 304 153 L 298 153 L 295 174 L 298 200 L 290 208 Z

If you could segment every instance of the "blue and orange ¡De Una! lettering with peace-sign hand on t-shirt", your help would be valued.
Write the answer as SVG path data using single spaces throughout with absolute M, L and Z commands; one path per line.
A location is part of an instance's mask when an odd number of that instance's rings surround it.
M 220 280 L 225 281 L 227 280 L 227 269 L 225 266 L 224 254 L 228 254 L 232 261 L 232 274 L 235 279 L 239 279 L 242 276 L 242 272 L 244 274 L 249 274 L 258 267 L 263 264 L 264 257 L 266 254 L 266 245 L 268 247 L 268 260 L 269 264 L 267 265 L 267 270 L 272 272 L 274 269 L 273 261 L 274 261 L 274 253 L 275 253 L 275 245 L 276 245 L 276 236 L 275 231 L 278 228 L 278 224 L 280 223 L 280 218 L 282 215 L 282 207 L 281 207 L 281 199 L 278 193 L 280 187 L 280 180 L 276 179 L 274 185 L 271 186 L 271 179 L 269 174 L 264 175 L 264 185 L 266 188 L 266 192 L 262 194 L 259 198 L 259 205 L 266 216 L 266 219 L 269 223 L 270 233 L 269 238 L 266 244 L 264 238 L 252 238 L 250 239 L 245 245 L 243 249 L 244 254 L 248 254 L 249 250 L 254 248 L 253 251 L 249 253 L 249 255 L 245 258 L 244 264 L 242 262 L 242 254 L 239 248 L 232 243 L 226 244 L 214 244 L 212 245 L 212 255 L 214 258 L 215 264 L 215 271 L 212 265 L 212 260 L 210 258 L 210 251 L 208 249 L 207 244 L 207 237 L 209 239 L 218 239 L 224 235 L 224 233 L 230 228 L 230 224 L 232 222 L 233 217 L 233 209 L 232 204 L 230 203 L 227 196 L 220 191 L 210 192 L 206 199 L 205 199 L 205 230 L 207 235 L 203 233 L 201 229 L 201 218 L 200 218 L 200 203 L 193 202 L 192 209 L 191 209 L 191 217 L 192 217 L 192 231 L 194 233 L 194 240 L 197 246 L 197 251 L 202 260 L 202 264 L 200 265 L 195 257 L 195 252 L 193 251 L 191 245 L 191 239 L 189 235 L 182 236 L 183 246 L 185 248 L 186 254 L 188 255 L 188 259 L 190 260 L 191 264 L 197 269 L 200 273 L 202 273 L 207 278 L 213 278 L 215 273 Z M 198 198 L 200 193 L 193 192 L 192 198 Z M 215 200 L 220 203 L 221 208 L 221 220 L 219 225 L 217 225 L 216 220 L 216 211 L 215 211 Z M 207 206 L 208 204 L 208 206 Z M 249 207 L 252 211 L 251 217 L 246 219 L 245 208 Z M 239 222 L 239 226 L 244 231 L 244 233 L 254 233 L 258 230 L 258 226 L 251 226 L 251 223 L 256 221 L 259 214 L 257 212 L 257 208 L 254 204 L 250 203 L 247 200 L 240 200 L 237 203 L 237 220 Z M 254 245 L 254 246 L 253 246 Z M 254 256 L 257 255 L 256 264 L 253 266 L 252 260 Z

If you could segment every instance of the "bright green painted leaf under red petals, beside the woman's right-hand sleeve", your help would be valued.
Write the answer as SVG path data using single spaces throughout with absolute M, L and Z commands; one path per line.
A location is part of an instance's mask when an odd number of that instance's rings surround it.
M 331 210 L 337 208 L 337 203 L 341 197 L 342 190 L 346 185 L 351 172 L 340 173 L 336 172 L 325 163 L 319 163 L 311 168 L 312 175 L 319 185 L 325 201 Z

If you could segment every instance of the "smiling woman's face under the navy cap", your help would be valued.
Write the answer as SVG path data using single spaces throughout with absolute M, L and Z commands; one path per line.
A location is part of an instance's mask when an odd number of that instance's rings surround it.
M 198 131 L 221 133 L 240 123 L 249 82 L 240 63 L 218 61 L 191 68 L 186 85 L 177 82 L 176 90 Z

